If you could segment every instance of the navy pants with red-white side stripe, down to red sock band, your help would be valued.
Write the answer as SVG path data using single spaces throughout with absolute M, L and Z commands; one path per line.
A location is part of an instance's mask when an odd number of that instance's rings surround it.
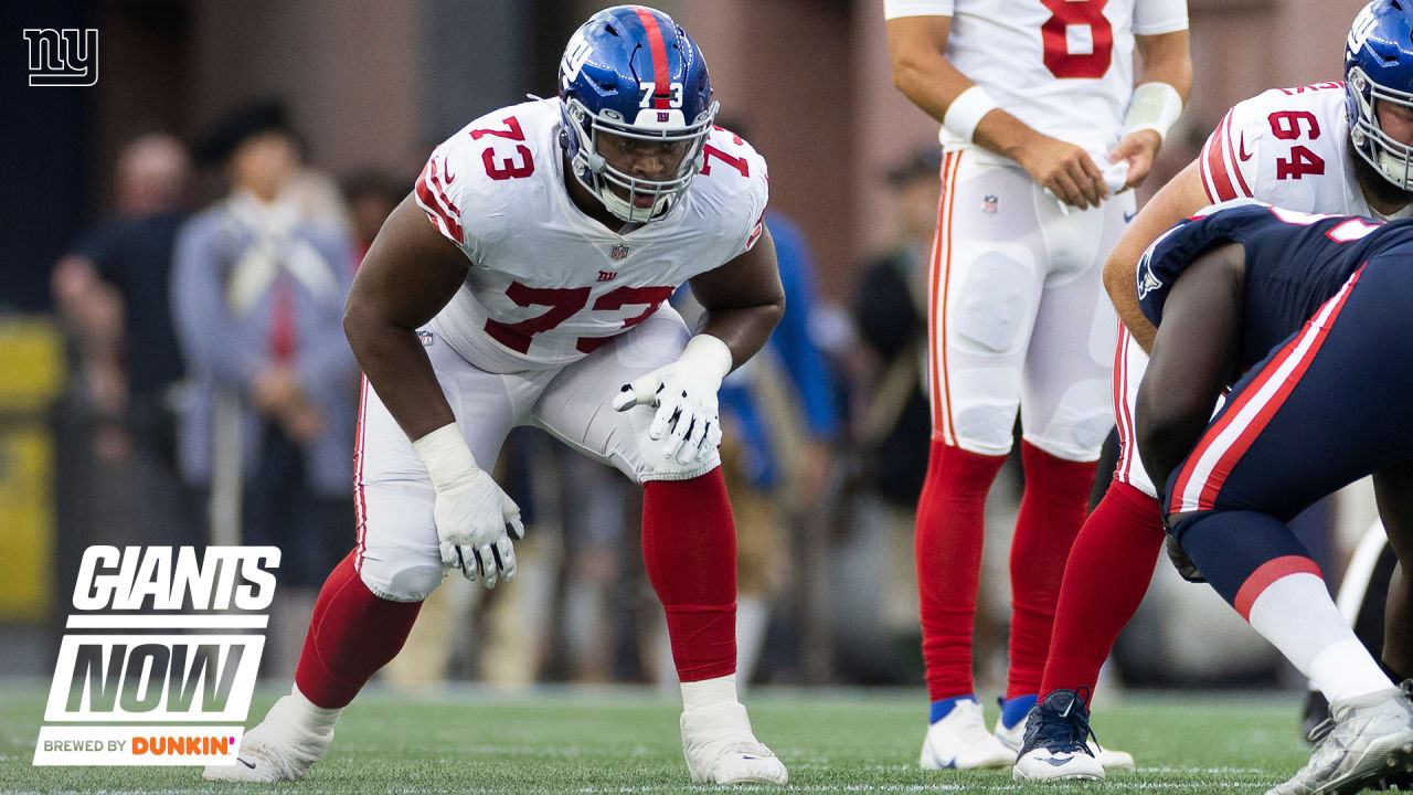
M 1413 257 L 1361 267 L 1228 395 L 1169 477 L 1171 533 L 1246 617 L 1265 586 L 1318 574 L 1286 525 L 1413 446 Z

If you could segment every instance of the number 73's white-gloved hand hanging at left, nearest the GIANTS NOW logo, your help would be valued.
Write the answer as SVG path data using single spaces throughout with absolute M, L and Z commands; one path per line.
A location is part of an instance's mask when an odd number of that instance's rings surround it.
M 502 491 L 489 472 L 472 468 L 437 488 L 432 506 L 442 564 L 459 569 L 486 588 L 516 577 L 516 550 L 510 540 L 524 538 L 520 506 Z

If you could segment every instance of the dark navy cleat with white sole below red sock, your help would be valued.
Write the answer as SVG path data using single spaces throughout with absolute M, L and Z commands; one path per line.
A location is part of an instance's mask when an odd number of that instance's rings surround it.
M 1091 750 L 1089 710 L 1075 690 L 1054 690 L 1030 707 L 1024 738 L 1010 777 L 1016 781 L 1075 781 L 1104 778 L 1104 765 Z M 1128 757 L 1129 767 L 1133 757 Z

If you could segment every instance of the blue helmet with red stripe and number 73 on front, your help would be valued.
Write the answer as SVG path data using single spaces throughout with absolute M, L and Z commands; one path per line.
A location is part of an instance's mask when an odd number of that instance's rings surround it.
M 706 61 L 667 14 L 615 6 L 569 37 L 560 61 L 560 143 L 574 177 L 617 218 L 646 224 L 667 215 L 702 164 L 718 103 Z M 601 140 L 663 147 L 667 178 L 636 177 L 605 160 Z

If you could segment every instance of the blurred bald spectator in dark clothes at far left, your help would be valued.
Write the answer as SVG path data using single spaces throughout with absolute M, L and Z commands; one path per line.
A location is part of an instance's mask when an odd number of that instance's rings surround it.
M 175 471 L 171 392 L 182 361 L 167 300 L 189 184 L 177 139 L 134 139 L 116 163 L 109 216 L 51 273 L 73 373 L 54 412 L 65 547 L 201 540 Z M 71 581 L 69 556 L 59 560 L 59 581 Z

